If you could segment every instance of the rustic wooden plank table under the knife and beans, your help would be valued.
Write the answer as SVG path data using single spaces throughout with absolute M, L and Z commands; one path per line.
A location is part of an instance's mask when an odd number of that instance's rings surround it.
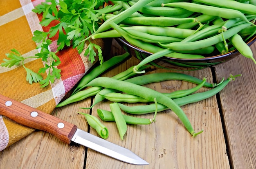
M 256 44 L 251 48 L 255 55 Z M 122 53 L 124 50 L 114 41 L 112 55 Z M 137 63 L 132 57 L 103 76 L 112 77 Z M 152 67 L 147 73 L 155 72 L 168 70 Z M 124 140 L 120 139 L 115 123 L 103 122 L 110 132 L 108 141 L 130 149 L 149 165 L 130 165 L 83 146 L 65 145 L 51 134 L 36 131 L 0 152 L 0 169 L 256 169 L 256 66 L 253 62 L 239 56 L 215 68 L 182 72 L 200 79 L 207 77 L 209 82 L 219 82 L 229 74 L 243 76 L 214 97 L 182 106 L 195 131 L 204 129 L 195 138 L 171 110 L 159 112 L 156 123 L 128 125 Z M 161 92 L 194 86 L 182 81 L 147 85 Z M 110 110 L 108 101 L 95 105 L 92 110 L 79 109 L 89 107 L 91 102 L 92 98 L 88 98 L 57 108 L 53 115 L 87 131 L 88 124 L 78 111 L 97 116 L 98 108 Z M 90 133 L 97 135 L 93 129 Z

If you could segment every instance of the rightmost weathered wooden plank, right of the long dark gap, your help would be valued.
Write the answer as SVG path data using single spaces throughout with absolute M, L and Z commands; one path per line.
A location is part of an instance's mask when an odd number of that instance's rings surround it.
M 251 46 L 254 57 L 256 44 Z M 216 66 L 217 79 L 229 74 L 242 74 L 220 92 L 220 102 L 231 164 L 234 169 L 256 168 L 256 66 L 240 55 L 231 61 Z

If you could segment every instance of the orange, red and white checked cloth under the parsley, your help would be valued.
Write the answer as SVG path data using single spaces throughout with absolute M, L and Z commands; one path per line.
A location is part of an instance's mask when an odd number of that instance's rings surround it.
M 10 49 L 13 48 L 24 57 L 38 53 L 31 37 L 35 30 L 43 31 L 47 28 L 42 28 L 39 24 L 42 16 L 32 12 L 31 9 L 43 1 L 0 0 L 0 63 L 3 62 L 3 58 L 7 58 L 5 53 L 10 53 Z M 56 39 L 53 40 L 55 40 L 53 44 L 56 44 Z M 102 40 L 94 43 L 103 46 Z M 56 45 L 52 45 L 51 50 L 56 50 Z M 71 47 L 62 50 L 57 55 L 61 59 L 61 65 L 58 66 L 61 69 L 61 79 L 45 88 L 40 88 L 39 83 L 29 84 L 26 81 L 26 71 L 22 66 L 11 68 L 0 66 L 0 94 L 51 114 L 56 104 L 92 66 L 83 53 L 79 55 L 77 50 Z M 26 61 L 28 61 L 26 67 L 35 72 L 43 67 L 41 59 L 27 59 Z M 46 75 L 43 77 L 45 78 Z M 33 131 L 34 129 L 0 116 L 0 151 Z

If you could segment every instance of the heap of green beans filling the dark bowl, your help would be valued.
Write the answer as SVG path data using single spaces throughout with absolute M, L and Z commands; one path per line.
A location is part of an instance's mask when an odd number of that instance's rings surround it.
M 135 66 L 135 72 L 143 73 L 138 71 L 140 66 L 164 56 L 199 59 L 234 49 L 256 64 L 246 44 L 256 33 L 256 6 L 253 0 L 153 0 L 138 7 L 141 1 L 112 1 L 123 5 L 118 11 L 103 15 L 102 19 L 112 30 L 92 35 L 92 39 L 122 37 L 152 53 Z M 134 7 L 137 11 L 124 15 L 125 11 Z M 122 19 L 112 22 L 118 17 Z M 198 52 L 202 48 L 205 50 Z

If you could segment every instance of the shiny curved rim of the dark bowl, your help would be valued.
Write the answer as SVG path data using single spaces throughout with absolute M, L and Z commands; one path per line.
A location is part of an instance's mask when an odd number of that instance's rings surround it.
M 119 41 L 122 43 L 126 44 L 127 46 L 133 48 L 134 50 L 137 50 L 139 52 L 145 53 L 147 55 L 152 55 L 153 53 L 150 53 L 144 49 L 138 48 L 137 46 L 134 46 L 130 44 L 127 40 L 125 40 L 122 37 L 117 37 Z M 256 35 L 250 38 L 250 40 L 246 43 L 248 46 L 251 46 L 254 42 L 256 41 Z M 198 58 L 198 59 L 184 59 L 184 58 L 175 58 L 175 57 L 164 57 L 164 59 L 170 59 L 173 61 L 211 61 L 215 59 L 222 59 L 224 57 L 227 57 L 231 54 L 239 53 L 237 49 L 231 50 L 228 53 L 220 54 L 220 55 L 215 55 L 215 56 L 209 56 L 209 57 L 204 57 L 204 58 Z

